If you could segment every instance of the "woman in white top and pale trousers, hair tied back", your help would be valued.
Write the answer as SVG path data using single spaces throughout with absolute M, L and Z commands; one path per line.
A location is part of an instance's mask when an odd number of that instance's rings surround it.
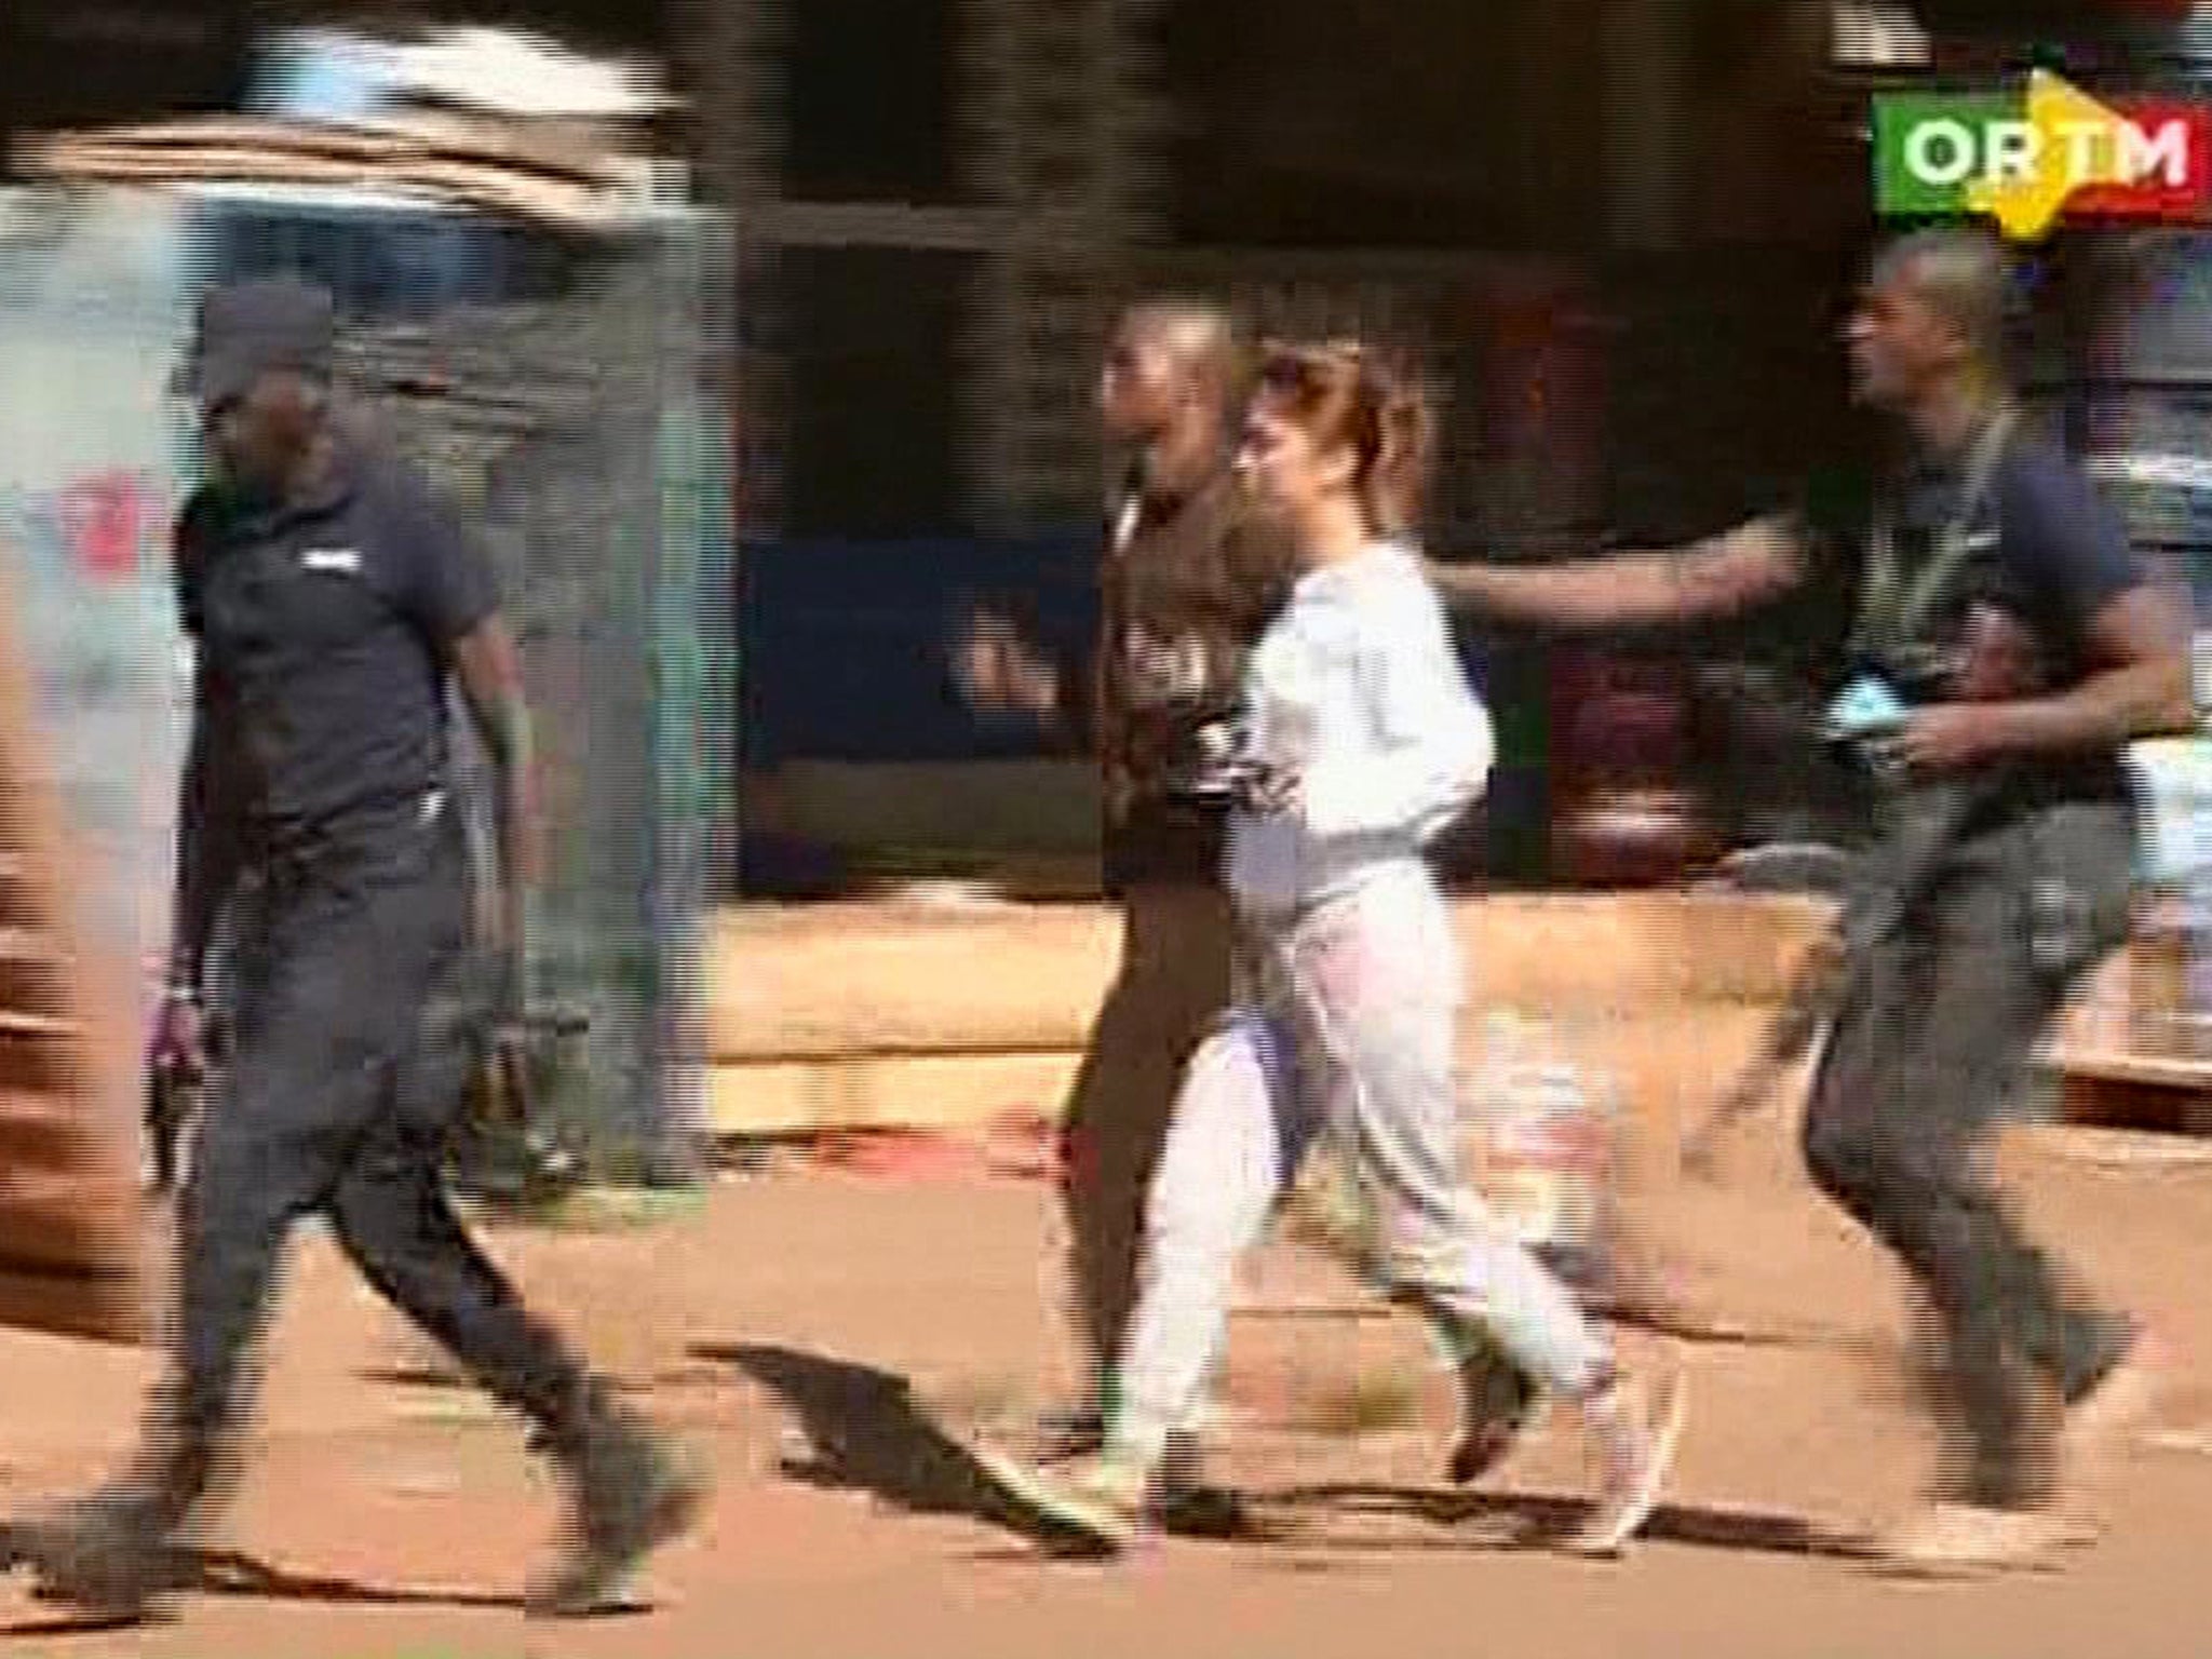
M 1681 1380 L 1630 1380 L 1573 1294 L 1460 1179 L 1460 949 L 1425 845 L 1482 792 L 1491 723 L 1407 540 L 1427 405 L 1356 345 L 1270 352 L 1241 467 L 1301 575 L 1248 675 L 1228 887 L 1234 1011 L 1190 1060 L 1150 1190 L 1148 1256 L 1106 1451 L 993 1464 L 1044 1515 L 1115 1548 L 1146 1520 L 1228 1321 L 1237 1259 L 1327 1141 L 1358 1194 L 1367 1267 L 1471 1347 L 1484 1334 L 1582 1407 L 1601 1495 L 1575 1546 L 1650 1517 Z

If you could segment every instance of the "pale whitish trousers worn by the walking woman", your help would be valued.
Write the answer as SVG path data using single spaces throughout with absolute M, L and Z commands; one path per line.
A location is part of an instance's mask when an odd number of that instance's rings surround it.
M 1237 1004 L 1199 1044 L 1146 1208 L 1137 1312 L 1110 1427 L 1157 1464 L 1194 1418 L 1237 1261 L 1307 1157 L 1345 1177 L 1338 1250 L 1464 1352 L 1478 1332 L 1579 1398 L 1610 1369 L 1573 1294 L 1460 1179 L 1458 940 L 1436 885 L 1374 883 L 1281 925 L 1245 925 Z

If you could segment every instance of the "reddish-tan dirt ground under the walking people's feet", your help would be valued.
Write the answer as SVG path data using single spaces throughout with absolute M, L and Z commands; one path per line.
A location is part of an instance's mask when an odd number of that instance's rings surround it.
M 699 1214 L 650 1230 L 495 1234 L 533 1294 L 719 1467 L 708 1526 L 650 1573 L 657 1610 L 568 1628 L 518 1617 L 551 1482 L 515 1425 L 409 1376 L 420 1349 L 310 1237 L 274 1334 L 259 1460 L 208 1557 L 208 1593 L 175 1624 L 124 1635 L 73 1630 L 15 1582 L 0 1588 L 0 1650 L 2199 1655 L 2212 1164 L 2190 1150 L 2068 1130 L 2013 1157 L 2035 1219 L 2148 1312 L 2179 1360 L 2115 1531 L 2057 1575 L 1909 1586 L 1851 1559 L 1851 1528 L 1911 1500 L 1929 1447 L 1900 1385 L 1896 1283 L 1796 1181 L 1783 1126 L 1767 1124 L 1728 1188 L 1655 1206 L 1701 1294 L 1767 1340 L 1688 1349 L 1679 1480 L 1621 1564 L 1546 1555 L 1524 1535 L 1582 1489 L 1564 1418 L 1480 1495 L 1444 1489 L 1451 1398 L 1420 1338 L 1343 1316 L 1343 1285 L 1290 1245 L 1254 1265 L 1219 1451 L 1265 1535 L 1170 1542 L 1106 1568 L 1042 1559 L 978 1506 L 938 1425 L 1053 1391 L 1048 1190 L 783 1170 L 730 1177 Z M 0 1338 L 0 1500 L 108 1462 L 148 1365 Z

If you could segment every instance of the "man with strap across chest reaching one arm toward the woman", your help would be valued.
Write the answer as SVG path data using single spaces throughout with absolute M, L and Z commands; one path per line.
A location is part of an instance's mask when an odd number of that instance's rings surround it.
M 2141 1334 L 2022 1237 L 1984 1150 L 2062 1004 L 2126 938 L 2121 750 L 2194 726 L 2183 617 L 2081 476 L 2020 429 L 2004 294 L 2004 250 L 1978 232 L 1920 232 L 1880 257 L 1851 361 L 1907 445 L 1871 491 L 1820 491 L 1681 553 L 1436 571 L 1491 617 L 1588 628 L 1794 588 L 1854 595 L 1834 719 L 1874 739 L 1885 787 L 1845 905 L 1805 1157 L 1902 1259 L 1944 1334 L 1955 1455 L 1931 1509 L 1882 1544 L 1936 1573 L 2062 1542 L 2053 1455 L 2075 1482 L 2097 1473 L 2086 1464 L 2150 1391 Z M 2022 684 L 2035 688 L 1991 695 Z

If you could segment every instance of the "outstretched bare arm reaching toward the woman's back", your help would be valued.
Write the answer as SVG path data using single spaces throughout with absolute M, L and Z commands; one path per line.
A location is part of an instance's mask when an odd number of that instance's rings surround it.
M 1666 553 L 1566 564 L 1429 564 L 1438 593 L 1493 622 L 1548 628 L 1639 628 L 1728 617 L 1798 586 L 1805 555 L 1781 518 Z

